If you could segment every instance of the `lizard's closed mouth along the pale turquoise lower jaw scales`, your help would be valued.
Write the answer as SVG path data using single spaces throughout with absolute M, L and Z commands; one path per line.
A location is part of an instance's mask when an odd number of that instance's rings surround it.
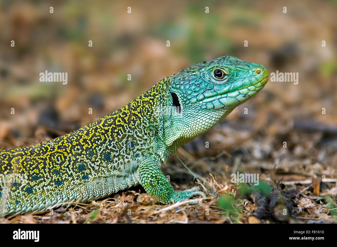
M 267 68 L 264 68 L 262 76 L 260 77 L 262 77 L 259 78 L 260 80 L 254 80 L 255 83 L 251 83 L 249 86 L 233 89 L 226 93 L 199 101 L 201 104 L 203 104 L 201 107 L 208 110 L 234 109 L 236 106 L 246 102 L 264 88 L 269 79 L 269 72 Z M 255 76 L 254 79 L 256 79 Z

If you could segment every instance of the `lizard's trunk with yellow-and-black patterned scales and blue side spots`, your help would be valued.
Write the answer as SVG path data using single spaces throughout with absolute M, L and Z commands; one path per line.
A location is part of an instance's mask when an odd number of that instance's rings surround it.
M 66 202 L 88 202 L 138 184 L 137 164 L 153 151 L 145 126 L 152 119 L 152 106 L 167 91 L 168 79 L 69 134 L 0 151 L 1 174 L 27 176 L 27 184 L 0 183 L 1 213 L 29 213 Z

